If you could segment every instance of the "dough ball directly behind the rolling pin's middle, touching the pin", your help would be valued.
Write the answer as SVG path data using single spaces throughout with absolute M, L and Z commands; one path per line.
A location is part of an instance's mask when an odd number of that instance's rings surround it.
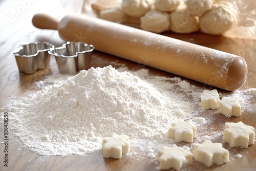
M 157 10 L 151 10 L 140 17 L 140 28 L 142 30 L 161 33 L 169 30 L 169 14 Z

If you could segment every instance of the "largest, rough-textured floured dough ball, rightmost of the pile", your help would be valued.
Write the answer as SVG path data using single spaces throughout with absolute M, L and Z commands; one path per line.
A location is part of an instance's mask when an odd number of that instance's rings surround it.
M 219 1 L 204 16 L 200 17 L 203 33 L 221 35 L 231 29 L 237 22 L 238 11 L 232 3 Z

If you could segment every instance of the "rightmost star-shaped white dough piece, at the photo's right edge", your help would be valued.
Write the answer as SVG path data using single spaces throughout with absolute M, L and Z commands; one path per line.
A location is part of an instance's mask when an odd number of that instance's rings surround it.
M 243 122 L 225 123 L 223 141 L 229 143 L 231 147 L 248 148 L 254 144 L 255 132 L 252 126 L 245 125 Z

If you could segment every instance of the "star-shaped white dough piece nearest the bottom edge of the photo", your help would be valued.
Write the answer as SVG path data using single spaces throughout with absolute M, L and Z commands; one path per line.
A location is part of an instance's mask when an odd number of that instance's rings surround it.
M 157 152 L 157 160 L 160 163 L 160 169 L 167 170 L 174 168 L 181 170 L 183 164 L 190 164 L 193 154 L 185 151 L 181 147 L 165 146 Z

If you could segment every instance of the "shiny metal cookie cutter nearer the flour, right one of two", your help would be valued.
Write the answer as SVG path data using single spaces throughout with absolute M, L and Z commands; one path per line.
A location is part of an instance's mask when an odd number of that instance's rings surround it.
M 49 54 L 54 55 L 59 72 L 65 74 L 75 74 L 79 70 L 90 67 L 90 54 L 94 50 L 93 45 L 84 42 L 68 41 L 61 47 L 52 48 Z

